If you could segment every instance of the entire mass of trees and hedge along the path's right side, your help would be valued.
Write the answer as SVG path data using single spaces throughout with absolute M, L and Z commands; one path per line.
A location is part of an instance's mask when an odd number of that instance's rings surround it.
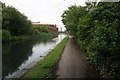
M 87 53 L 101 76 L 120 77 L 120 2 L 86 2 L 70 6 L 62 22 Z

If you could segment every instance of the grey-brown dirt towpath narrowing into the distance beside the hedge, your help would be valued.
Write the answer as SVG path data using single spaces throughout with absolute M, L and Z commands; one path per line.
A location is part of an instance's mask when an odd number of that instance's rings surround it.
M 69 38 L 58 63 L 58 78 L 97 78 L 98 72 L 87 61 L 77 41 Z

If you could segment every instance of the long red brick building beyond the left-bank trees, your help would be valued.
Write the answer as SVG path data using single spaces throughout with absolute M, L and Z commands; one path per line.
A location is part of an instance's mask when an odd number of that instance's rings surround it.
M 32 24 L 37 26 L 48 26 L 49 33 L 58 33 L 58 28 L 56 25 L 53 24 L 39 24 L 40 22 L 32 22 Z

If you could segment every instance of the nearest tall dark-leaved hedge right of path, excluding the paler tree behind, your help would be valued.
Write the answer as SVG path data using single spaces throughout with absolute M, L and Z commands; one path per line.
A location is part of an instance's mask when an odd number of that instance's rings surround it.
M 119 3 L 99 3 L 81 18 L 76 37 L 88 58 L 104 75 L 120 77 Z M 117 13 L 116 13 L 117 11 Z M 118 14 L 119 13 L 119 14 Z

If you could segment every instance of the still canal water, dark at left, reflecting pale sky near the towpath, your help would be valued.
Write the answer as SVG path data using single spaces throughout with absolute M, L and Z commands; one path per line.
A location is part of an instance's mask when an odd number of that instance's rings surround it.
M 53 49 L 66 35 L 34 37 L 2 44 L 2 77 L 12 78 L 18 71 L 29 69 Z M 31 65 L 32 64 L 32 65 Z

